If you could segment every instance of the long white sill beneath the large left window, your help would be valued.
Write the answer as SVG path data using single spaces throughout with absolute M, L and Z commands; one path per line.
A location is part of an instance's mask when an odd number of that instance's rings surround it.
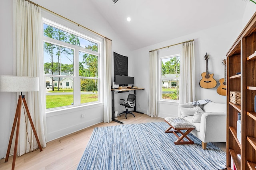
M 90 109 L 90 108 L 99 107 L 99 106 L 104 106 L 104 104 L 103 103 L 96 103 L 96 104 L 94 103 L 94 104 L 74 106 L 74 107 L 66 107 L 66 108 L 62 108 L 62 109 L 46 111 L 46 117 L 62 115 L 62 114 L 70 113 L 70 112 L 73 112 L 73 111 L 80 111 L 80 110 Z

